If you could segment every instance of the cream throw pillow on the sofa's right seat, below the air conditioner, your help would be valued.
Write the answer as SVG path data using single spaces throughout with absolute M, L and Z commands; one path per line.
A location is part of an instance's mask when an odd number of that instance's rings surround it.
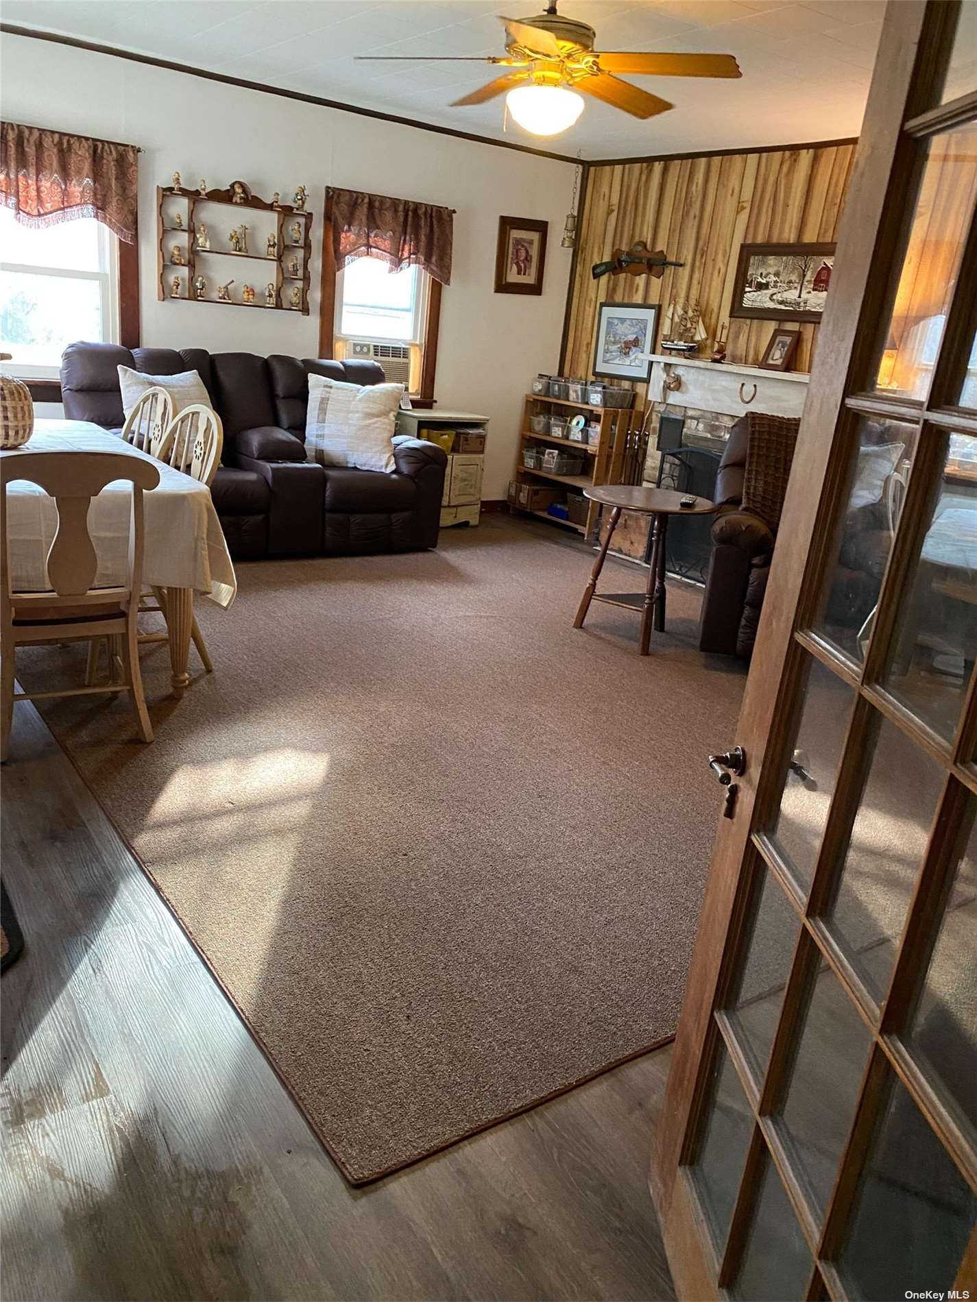
M 347 384 L 309 376 L 305 453 L 322 466 L 393 470 L 393 427 L 403 384 Z

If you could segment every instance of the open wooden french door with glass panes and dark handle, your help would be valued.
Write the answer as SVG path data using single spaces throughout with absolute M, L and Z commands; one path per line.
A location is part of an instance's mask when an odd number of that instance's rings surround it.
M 976 204 L 977 4 L 891 0 L 716 738 L 651 1168 L 681 1298 L 977 1295 Z

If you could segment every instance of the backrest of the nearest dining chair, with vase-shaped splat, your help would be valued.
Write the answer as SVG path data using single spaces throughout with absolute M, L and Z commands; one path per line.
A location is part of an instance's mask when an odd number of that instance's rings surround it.
M 104 605 L 117 599 L 120 605 L 138 605 L 142 590 L 142 495 L 159 483 L 159 470 L 151 461 L 122 452 L 30 452 L 0 457 L 0 600 L 4 620 L 12 617 L 12 589 L 7 536 L 7 493 L 12 483 L 23 479 L 55 499 L 57 531 L 47 553 L 51 591 L 17 592 L 17 615 L 23 608 L 42 615 L 59 607 Z M 133 527 L 129 538 L 126 582 L 112 587 L 92 587 L 98 555 L 89 533 L 89 506 L 106 484 L 126 480 L 133 491 Z

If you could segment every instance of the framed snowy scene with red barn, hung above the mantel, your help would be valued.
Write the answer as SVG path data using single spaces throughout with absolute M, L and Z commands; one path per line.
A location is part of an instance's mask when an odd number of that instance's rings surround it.
M 835 266 L 835 246 L 743 245 L 731 316 L 819 322 Z

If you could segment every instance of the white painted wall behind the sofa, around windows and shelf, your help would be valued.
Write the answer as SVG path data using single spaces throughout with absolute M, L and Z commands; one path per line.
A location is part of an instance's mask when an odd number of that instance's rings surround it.
M 423 76 L 422 68 L 418 76 Z M 8 121 L 139 145 L 142 342 L 211 352 L 314 357 L 319 247 L 327 185 L 456 208 L 452 283 L 442 301 L 436 398 L 491 418 L 483 496 L 505 496 L 522 395 L 555 370 L 571 250 L 560 247 L 573 168 L 567 163 L 301 104 L 185 73 L 26 36 L 0 44 L 0 107 Z M 159 302 L 155 190 L 175 171 L 185 185 L 246 181 L 270 198 L 309 189 L 314 258 L 310 315 Z M 550 223 L 539 298 L 492 292 L 499 216 Z

